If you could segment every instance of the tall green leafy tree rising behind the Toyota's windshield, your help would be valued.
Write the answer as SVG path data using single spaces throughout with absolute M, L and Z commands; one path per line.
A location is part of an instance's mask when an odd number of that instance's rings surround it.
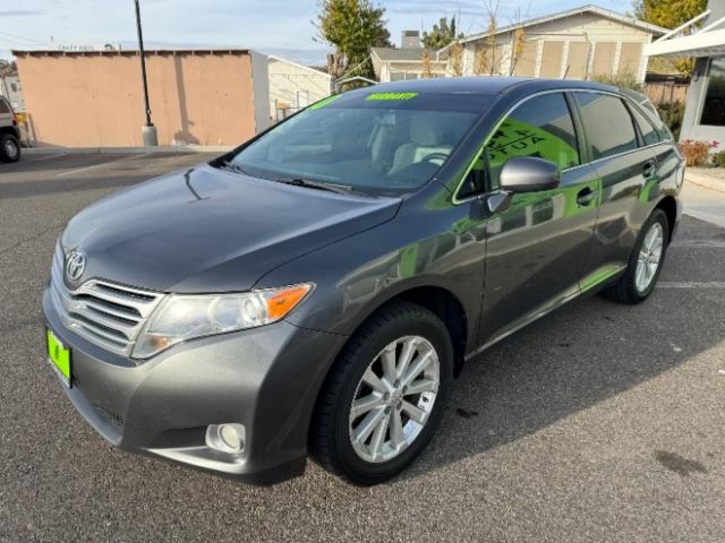
M 319 0 L 318 16 L 312 22 L 318 30 L 315 41 L 329 43 L 328 73 L 333 77 L 373 77 L 370 48 L 390 47 L 385 8 L 371 0 Z

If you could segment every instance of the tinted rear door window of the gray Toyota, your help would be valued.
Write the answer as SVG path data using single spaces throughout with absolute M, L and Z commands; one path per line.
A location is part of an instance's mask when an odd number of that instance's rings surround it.
M 605 159 L 637 149 L 637 132 L 620 98 L 600 93 L 574 93 L 587 132 L 592 158 Z

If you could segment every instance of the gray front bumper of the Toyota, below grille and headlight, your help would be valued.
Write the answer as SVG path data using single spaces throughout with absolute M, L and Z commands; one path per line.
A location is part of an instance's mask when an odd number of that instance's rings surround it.
M 194 340 L 136 366 L 63 327 L 49 292 L 47 326 L 72 348 L 75 408 L 105 439 L 252 484 L 302 474 L 320 385 L 346 337 L 280 321 Z M 239 454 L 204 443 L 210 424 L 244 424 Z

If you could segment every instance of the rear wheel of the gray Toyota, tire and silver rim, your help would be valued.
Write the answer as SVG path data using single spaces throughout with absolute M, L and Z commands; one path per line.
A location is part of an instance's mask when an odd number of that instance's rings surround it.
M 661 209 L 655 209 L 639 232 L 626 272 L 605 290 L 609 298 L 624 303 L 639 303 L 657 284 L 665 261 L 669 240 L 669 223 Z

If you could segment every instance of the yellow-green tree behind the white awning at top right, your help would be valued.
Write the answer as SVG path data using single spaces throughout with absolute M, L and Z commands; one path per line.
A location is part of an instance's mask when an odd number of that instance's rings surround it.
M 634 0 L 634 14 L 639 19 L 669 29 L 677 28 L 697 17 L 707 7 L 708 0 Z M 683 75 L 691 75 L 695 67 L 695 61 L 688 58 L 653 58 L 651 63 L 655 70 L 675 70 Z

